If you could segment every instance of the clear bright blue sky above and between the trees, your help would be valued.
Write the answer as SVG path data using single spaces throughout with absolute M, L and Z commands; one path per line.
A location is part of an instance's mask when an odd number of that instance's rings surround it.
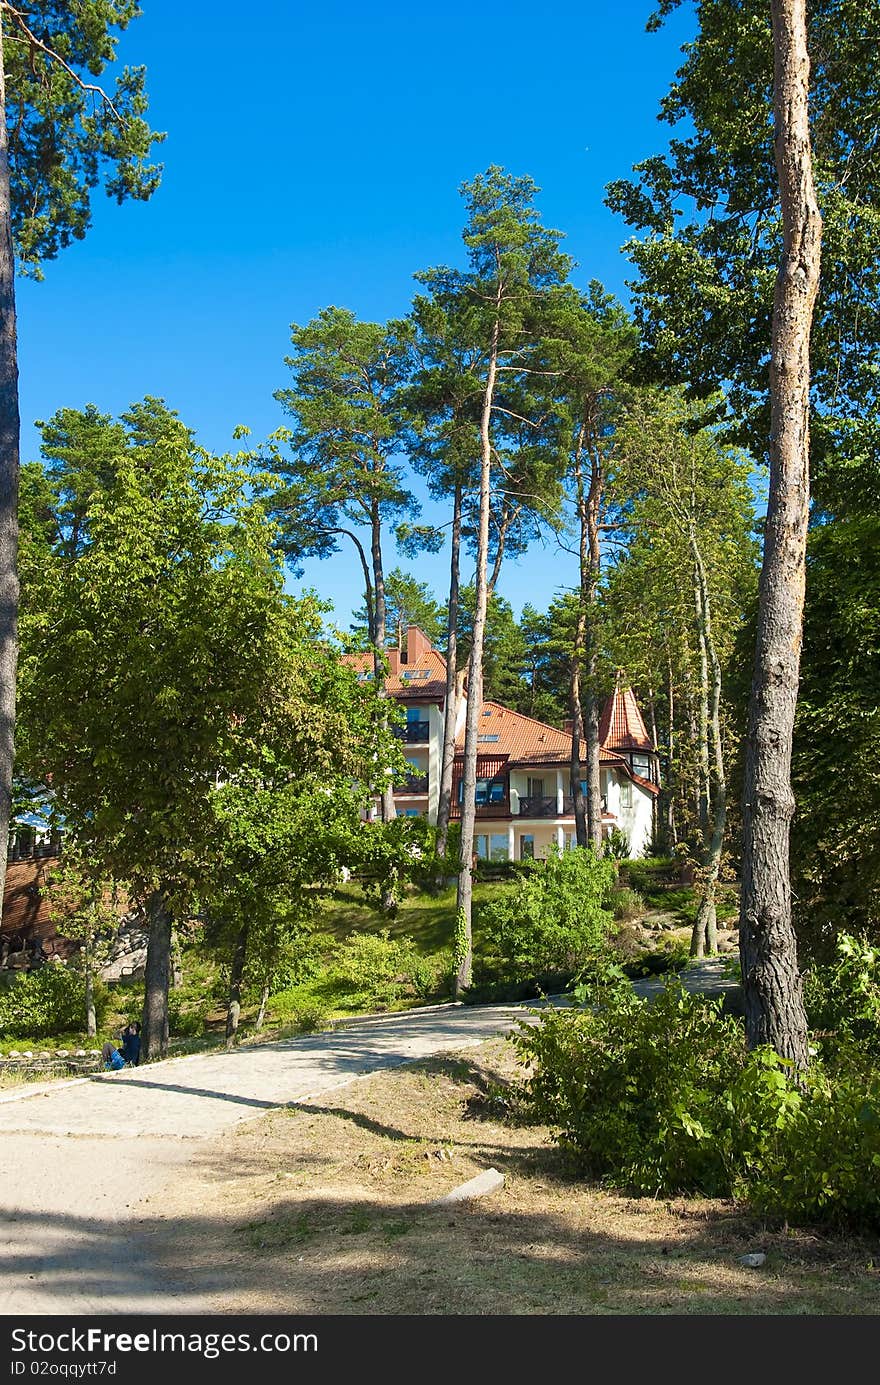
M 405 312 L 416 270 L 461 260 L 457 188 L 489 163 L 540 186 L 575 281 L 626 301 L 626 227 L 603 193 L 665 144 L 657 109 L 689 6 L 655 35 L 651 0 L 141 6 L 121 55 L 148 69 L 162 187 L 122 208 L 98 194 L 89 237 L 44 283 L 19 283 L 25 460 L 35 420 L 86 403 L 116 414 L 146 393 L 218 452 L 237 424 L 265 436 L 283 422 L 272 396 L 290 324 L 328 303 Z M 516 611 L 545 607 L 572 561 L 529 554 L 499 591 Z M 417 575 L 442 593 L 443 557 Z M 303 584 L 342 626 L 360 604 L 348 554 L 309 564 Z

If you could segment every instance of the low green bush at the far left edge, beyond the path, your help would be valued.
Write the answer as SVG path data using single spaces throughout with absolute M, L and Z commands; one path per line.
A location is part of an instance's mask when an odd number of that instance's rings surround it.
M 107 1014 L 107 988 L 93 983 L 98 1029 Z M 51 1035 L 85 1033 L 86 981 L 82 972 L 58 963 L 35 971 L 15 972 L 0 990 L 0 1036 L 47 1039 Z

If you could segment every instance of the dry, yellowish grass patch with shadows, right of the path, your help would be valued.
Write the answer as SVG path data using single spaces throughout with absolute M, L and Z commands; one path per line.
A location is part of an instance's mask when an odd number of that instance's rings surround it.
M 578 1180 L 546 1130 L 504 1118 L 513 1071 L 495 1040 L 241 1126 L 164 1198 L 152 1249 L 225 1313 L 880 1310 L 876 1241 Z M 489 1166 L 498 1192 L 427 1205 Z M 739 1263 L 750 1251 L 761 1269 Z

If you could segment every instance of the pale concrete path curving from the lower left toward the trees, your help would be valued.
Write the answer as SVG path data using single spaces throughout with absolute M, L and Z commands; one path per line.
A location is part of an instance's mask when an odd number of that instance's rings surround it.
M 734 985 L 716 960 L 685 982 L 692 990 Z M 635 989 L 651 994 L 661 985 Z M 534 1006 L 442 1006 L 4 1093 L 0 1313 L 209 1312 L 151 1269 L 139 1233 L 195 1141 L 360 1075 L 507 1033 Z

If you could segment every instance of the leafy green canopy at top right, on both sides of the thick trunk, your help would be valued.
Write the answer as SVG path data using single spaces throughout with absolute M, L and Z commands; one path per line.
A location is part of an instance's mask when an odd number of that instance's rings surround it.
M 675 8 L 662 0 L 660 15 Z M 698 28 L 661 102 L 678 126 L 662 155 L 610 205 L 642 238 L 626 247 L 643 366 L 689 389 L 730 391 L 740 438 L 771 436 L 768 360 L 780 248 L 772 141 L 773 40 L 764 0 L 700 0 Z M 811 472 L 823 506 L 876 507 L 880 341 L 880 140 L 873 0 L 809 6 L 812 163 L 822 284 L 811 335 Z M 725 73 L 719 83 L 719 72 Z M 858 285 L 858 288 L 855 288 Z

